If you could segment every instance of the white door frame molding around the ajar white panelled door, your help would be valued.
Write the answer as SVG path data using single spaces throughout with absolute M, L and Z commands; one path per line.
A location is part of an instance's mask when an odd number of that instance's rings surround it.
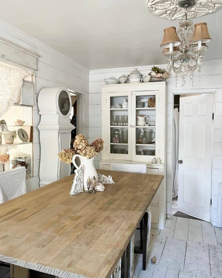
M 173 92 L 173 102 L 172 102 L 172 109 L 171 109 L 171 112 L 172 112 L 172 123 L 173 123 L 173 110 L 174 110 L 174 96 L 175 95 L 190 95 L 190 94 L 214 94 L 214 107 L 213 107 L 213 111 L 214 111 L 214 114 L 215 114 L 215 105 L 216 105 L 216 93 L 217 91 L 215 89 L 180 89 L 180 90 L 177 90 L 175 93 Z M 211 156 L 211 199 L 213 200 L 213 191 L 212 191 L 212 188 L 213 188 L 213 169 L 214 169 L 214 125 L 215 125 L 215 121 L 213 121 L 213 152 L 212 152 L 212 156 Z M 172 133 L 171 133 L 171 136 L 172 136 L 172 149 L 173 149 L 173 124 L 172 124 Z M 171 165 L 172 164 L 172 161 L 173 161 L 173 151 L 171 152 Z M 173 186 L 173 169 L 171 167 L 171 217 L 172 217 L 172 186 Z M 212 223 L 212 204 L 210 206 L 210 222 Z

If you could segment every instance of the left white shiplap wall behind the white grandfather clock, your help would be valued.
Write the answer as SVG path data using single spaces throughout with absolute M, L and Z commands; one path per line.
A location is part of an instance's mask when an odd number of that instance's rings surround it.
M 0 21 L 0 37 L 39 55 L 35 74 L 36 100 L 43 87 L 65 86 L 84 95 L 85 105 L 81 114 L 85 119 L 85 124 L 80 130 L 88 138 L 89 70 L 4 21 Z M 33 107 L 34 177 L 27 180 L 28 191 L 39 187 L 40 140 L 37 128 L 39 122 L 40 115 L 36 102 Z

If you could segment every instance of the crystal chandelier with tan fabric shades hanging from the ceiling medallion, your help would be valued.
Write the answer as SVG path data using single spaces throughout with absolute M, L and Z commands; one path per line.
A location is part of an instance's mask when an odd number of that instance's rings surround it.
M 206 43 L 211 41 L 207 23 L 197 23 L 187 18 L 187 8 L 195 5 L 195 0 L 179 0 L 178 5 L 185 10 L 185 19 L 179 22 L 176 32 L 175 27 L 164 29 L 161 47 L 164 47 L 162 54 L 167 57 L 168 71 L 175 73 L 176 86 L 178 76 L 182 78 L 182 86 L 186 83 L 186 76 L 190 76 L 193 84 L 194 71 L 201 71 L 201 62 L 204 52 L 207 51 Z M 179 56 L 176 57 L 179 52 Z M 190 52 L 190 53 L 189 53 Z

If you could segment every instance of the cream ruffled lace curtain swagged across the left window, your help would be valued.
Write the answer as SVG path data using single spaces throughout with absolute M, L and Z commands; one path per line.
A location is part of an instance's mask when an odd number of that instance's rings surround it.
M 18 102 L 23 79 L 31 71 L 0 63 L 0 118 Z

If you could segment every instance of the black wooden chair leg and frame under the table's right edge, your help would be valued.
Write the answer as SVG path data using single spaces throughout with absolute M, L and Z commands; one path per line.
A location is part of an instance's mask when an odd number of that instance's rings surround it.
M 147 259 L 147 231 L 148 231 L 148 212 L 146 211 L 140 220 L 140 248 L 134 248 L 134 254 L 143 254 L 143 270 L 146 270 Z

